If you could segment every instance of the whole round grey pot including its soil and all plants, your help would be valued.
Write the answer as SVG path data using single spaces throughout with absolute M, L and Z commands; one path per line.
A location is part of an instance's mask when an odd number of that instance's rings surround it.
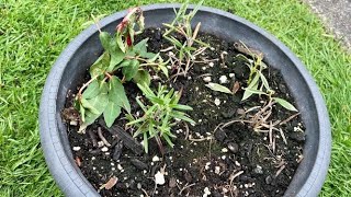
M 79 58 L 89 50 L 67 50 L 75 58 L 57 68 L 71 73 L 64 77 L 68 89 L 54 89 L 56 102 L 43 95 L 59 118 L 47 127 L 41 115 L 44 152 L 50 170 L 61 170 L 55 178 L 64 193 L 317 194 L 328 164 L 317 157 L 326 153 L 320 143 L 328 147 L 319 138 L 328 121 L 301 63 L 241 19 L 200 5 L 174 11 L 129 9 L 82 36 L 78 48 L 90 46 L 94 58 Z M 46 114 L 52 107 L 43 103 Z

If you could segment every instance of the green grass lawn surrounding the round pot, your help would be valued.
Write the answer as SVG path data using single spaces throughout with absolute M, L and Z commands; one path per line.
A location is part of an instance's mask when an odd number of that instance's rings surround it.
M 90 13 L 110 14 L 138 2 L 0 1 L 0 196 L 61 195 L 38 137 L 45 78 L 81 24 L 91 20 Z M 332 158 L 320 196 L 351 194 L 351 56 L 298 0 L 206 0 L 205 4 L 230 8 L 279 37 L 304 61 L 325 96 L 332 124 Z

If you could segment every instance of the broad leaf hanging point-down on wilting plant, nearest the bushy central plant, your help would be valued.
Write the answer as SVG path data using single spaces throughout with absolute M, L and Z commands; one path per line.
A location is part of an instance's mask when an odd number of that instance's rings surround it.
M 116 105 L 123 107 L 127 113 L 131 113 L 131 104 L 125 94 L 121 80 L 113 76 L 110 81 L 109 100 L 114 102 Z

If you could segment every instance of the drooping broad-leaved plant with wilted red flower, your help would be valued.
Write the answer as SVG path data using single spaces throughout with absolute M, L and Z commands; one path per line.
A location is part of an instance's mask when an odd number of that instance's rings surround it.
M 80 88 L 76 96 L 76 108 L 81 117 L 80 132 L 84 132 L 102 114 L 106 126 L 111 127 L 122 108 L 131 113 L 124 82 L 133 80 L 136 83 L 149 84 L 148 67 L 157 72 L 161 70 L 168 76 L 166 62 L 159 54 L 147 51 L 147 39 L 134 44 L 134 36 L 143 30 L 144 16 L 139 8 L 128 11 L 116 26 L 115 35 L 102 32 L 99 27 L 99 38 L 104 53 L 90 67 L 91 79 Z M 122 72 L 122 79 L 114 76 L 117 72 Z

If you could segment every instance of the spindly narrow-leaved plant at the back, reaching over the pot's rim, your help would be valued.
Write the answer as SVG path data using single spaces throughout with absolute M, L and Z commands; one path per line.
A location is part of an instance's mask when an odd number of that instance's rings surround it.
M 203 0 L 199 2 L 196 8 L 192 10 L 190 13 L 186 14 L 189 0 L 181 5 L 181 8 L 178 10 L 178 12 L 174 10 L 176 19 L 172 21 L 171 24 L 163 23 L 168 30 L 163 34 L 163 37 L 168 39 L 173 47 L 177 49 L 177 57 L 170 56 L 172 59 L 172 66 L 174 69 L 177 69 L 176 76 L 186 76 L 189 69 L 192 66 L 192 61 L 196 59 L 196 56 L 204 51 L 207 47 L 210 47 L 204 42 L 196 39 L 196 36 L 199 34 L 199 30 L 201 26 L 201 23 L 197 23 L 194 31 L 192 31 L 191 21 L 196 14 L 200 5 L 203 3 Z M 171 33 L 178 33 L 181 36 L 185 38 L 184 43 L 177 39 L 174 36 L 171 35 Z M 200 48 L 194 47 L 194 43 L 196 43 Z

